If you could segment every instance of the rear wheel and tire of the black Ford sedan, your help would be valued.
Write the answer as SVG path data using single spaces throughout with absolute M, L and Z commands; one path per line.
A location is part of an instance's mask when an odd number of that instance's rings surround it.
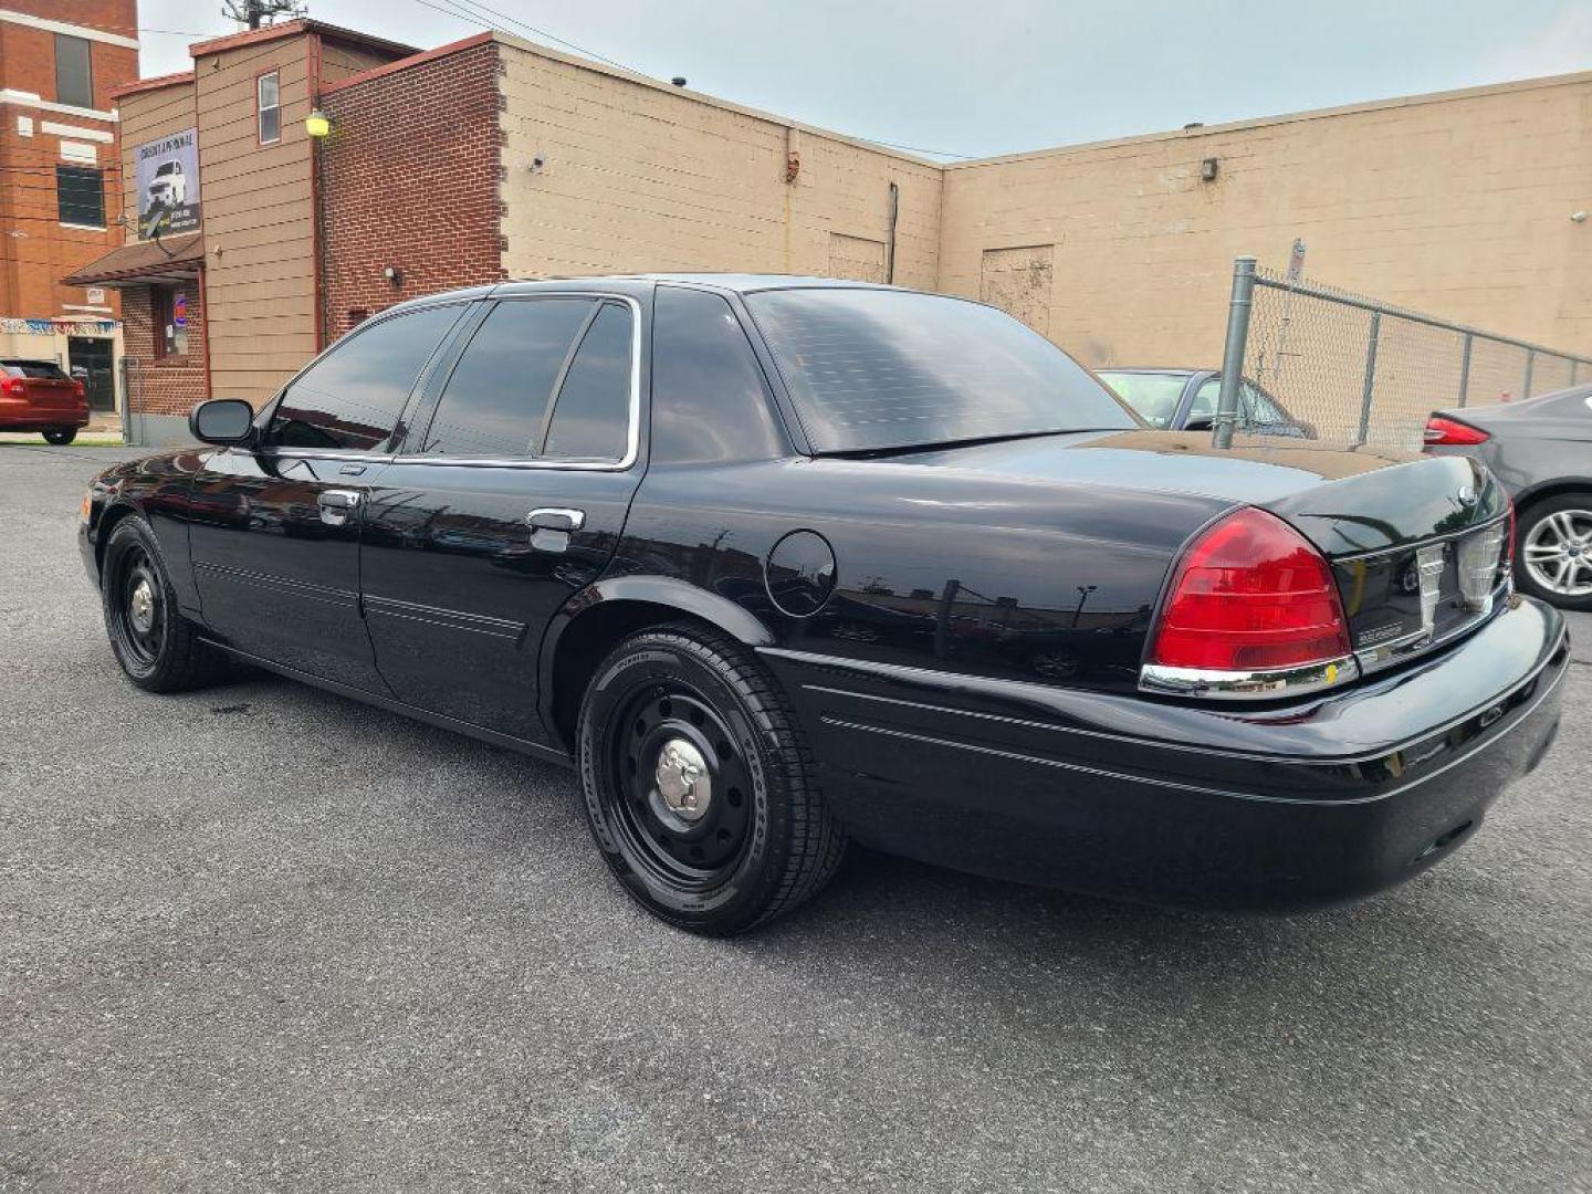
M 619 643 L 586 688 L 578 758 L 599 850 L 677 928 L 732 936 L 785 915 L 845 850 L 793 712 L 723 634 L 665 626 Z

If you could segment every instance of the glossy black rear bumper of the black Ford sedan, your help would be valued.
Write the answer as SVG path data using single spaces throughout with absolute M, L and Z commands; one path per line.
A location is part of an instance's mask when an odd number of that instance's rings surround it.
M 1559 728 L 1563 619 L 1530 599 L 1286 708 L 1199 708 L 767 651 L 864 844 L 1172 904 L 1356 899 L 1468 841 Z

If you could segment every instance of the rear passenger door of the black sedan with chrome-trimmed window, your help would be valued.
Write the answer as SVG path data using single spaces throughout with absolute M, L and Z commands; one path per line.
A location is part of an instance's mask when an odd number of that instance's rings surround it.
M 613 556 L 640 481 L 642 306 L 484 306 L 427 387 L 430 419 L 371 484 L 361 591 L 398 699 L 546 740 L 543 629 Z

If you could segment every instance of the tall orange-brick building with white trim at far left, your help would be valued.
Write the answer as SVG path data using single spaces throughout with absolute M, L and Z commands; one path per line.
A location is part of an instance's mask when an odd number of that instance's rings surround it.
M 116 88 L 139 76 L 135 0 L 0 10 L 0 355 L 53 360 L 116 406 L 118 302 L 64 275 L 121 244 Z

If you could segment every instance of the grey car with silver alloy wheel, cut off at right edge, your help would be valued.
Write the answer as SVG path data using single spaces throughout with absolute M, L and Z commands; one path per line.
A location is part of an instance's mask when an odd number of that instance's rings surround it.
M 1514 497 L 1514 576 L 1525 592 L 1592 610 L 1592 385 L 1436 411 L 1426 451 L 1481 460 Z

